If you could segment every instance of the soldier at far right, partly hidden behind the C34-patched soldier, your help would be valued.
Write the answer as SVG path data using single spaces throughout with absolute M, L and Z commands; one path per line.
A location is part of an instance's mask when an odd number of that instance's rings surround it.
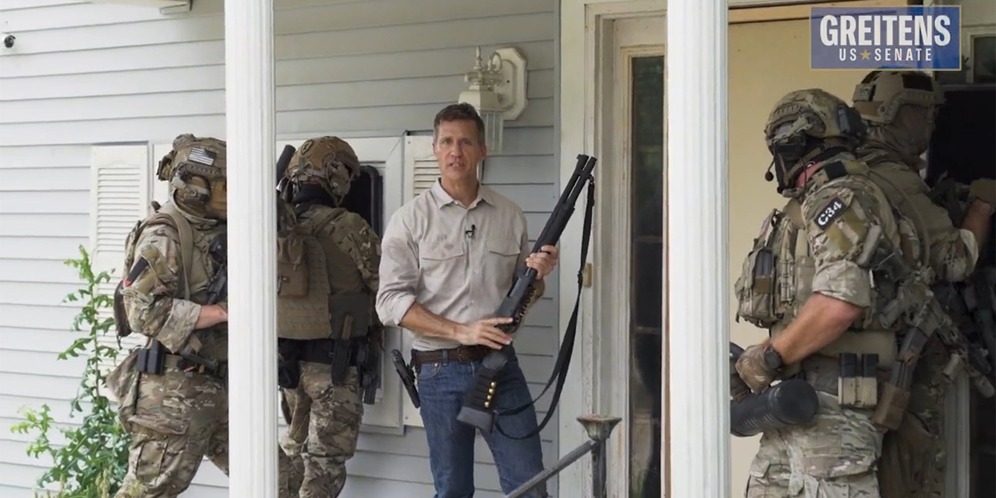
M 858 157 L 889 202 L 913 221 L 920 259 L 939 280 L 961 282 L 975 269 L 996 205 L 992 179 L 972 182 L 961 228 L 933 203 L 920 172 L 934 117 L 943 104 L 940 85 L 919 72 L 872 71 L 855 88 L 854 107 L 869 125 Z M 879 481 L 885 497 L 944 496 L 943 369 L 947 355 L 936 338 L 927 343 L 914 371 L 906 416 L 885 435 Z

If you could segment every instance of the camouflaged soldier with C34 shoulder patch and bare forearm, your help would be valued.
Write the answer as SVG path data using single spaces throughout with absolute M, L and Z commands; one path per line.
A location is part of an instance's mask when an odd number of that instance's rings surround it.
M 804 378 L 819 408 L 810 423 L 764 431 L 747 497 L 879 496 L 874 396 L 838 388 L 846 356 L 877 355 L 878 372 L 891 366 L 898 327 L 878 318 L 894 279 L 878 259 L 906 257 L 904 220 L 854 156 L 865 133 L 852 108 L 818 89 L 786 95 L 765 125 L 767 177 L 789 201 L 764 220 L 735 284 L 738 320 L 770 333 L 735 370 L 754 392 Z

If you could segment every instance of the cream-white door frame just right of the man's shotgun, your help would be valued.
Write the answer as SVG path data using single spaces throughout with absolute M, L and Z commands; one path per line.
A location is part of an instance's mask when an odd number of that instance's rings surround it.
M 560 83 L 560 157 L 561 184 L 566 184 L 574 171 L 573 158 L 579 153 L 599 158 L 595 168 L 596 208 L 593 216 L 592 246 L 589 262 L 594 265 L 592 281 L 596 286 L 582 290 L 582 304 L 579 311 L 577 342 L 573 357 L 572 373 L 565 382 L 564 394 L 559 407 L 559 453 L 564 455 L 588 439 L 577 421 L 582 413 L 602 413 L 621 416 L 623 422 L 617 426 L 609 442 L 609 495 L 626 496 L 626 479 L 615 476 L 627 475 L 628 452 L 626 422 L 626 399 L 628 389 L 613 389 L 618 386 L 614 380 L 620 369 L 626 376 L 628 339 L 622 342 L 619 337 L 628 336 L 628 318 L 620 322 L 620 317 L 606 324 L 596 323 L 596 317 L 612 317 L 622 303 L 628 310 L 628 281 L 608 280 L 612 271 L 606 263 L 612 261 L 611 252 L 619 250 L 619 238 L 628 241 L 628 206 L 619 202 L 628 191 L 628 171 L 622 164 L 614 163 L 620 150 L 615 148 L 612 133 L 604 129 L 614 129 L 620 123 L 621 110 L 614 109 L 615 94 L 613 82 L 617 77 L 612 69 L 617 56 L 613 39 L 614 24 L 617 19 L 632 17 L 661 16 L 660 33 L 663 33 L 664 0 L 564 0 L 561 3 L 561 83 Z M 580 77 L 578 76 L 580 75 Z M 579 81 L 580 80 L 580 81 Z M 603 98 L 603 92 L 608 99 Z M 610 124 L 604 127 L 603 122 Z M 626 128 L 628 125 L 626 125 Z M 620 146 L 626 147 L 626 144 Z M 622 156 L 627 155 L 622 153 Z M 581 197 L 584 197 L 582 195 Z M 585 202 L 579 199 L 581 203 Z M 619 212 L 618 209 L 622 209 Z M 560 324 L 566 328 L 574 307 L 577 292 L 575 269 L 580 266 L 581 226 L 584 220 L 584 205 L 576 206 L 576 215 L 561 236 L 560 271 Z M 620 218 L 622 216 L 622 218 Z M 622 223 L 621 223 L 622 221 Z M 625 243 L 628 246 L 628 242 Z M 628 265 L 627 258 L 622 258 Z M 624 274 L 623 274 L 624 275 Z M 621 301 L 620 301 L 621 300 Z M 602 310 L 606 310 L 603 312 Z M 622 323 L 622 326 L 619 324 Z M 595 332 L 596 326 L 600 332 Z M 561 333 L 563 334 L 563 332 Z M 563 339 L 563 336 L 561 337 Z M 591 494 L 591 465 L 571 465 L 561 473 L 558 489 L 560 496 L 586 496 Z

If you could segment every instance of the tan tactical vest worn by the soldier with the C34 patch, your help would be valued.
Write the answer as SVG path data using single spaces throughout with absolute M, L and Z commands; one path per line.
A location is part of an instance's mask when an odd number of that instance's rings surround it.
M 832 159 L 832 162 L 836 161 L 840 161 L 843 167 L 824 167 L 811 181 L 818 186 L 845 174 L 869 174 L 869 168 L 861 162 Z M 882 206 L 889 205 L 880 194 L 875 195 Z M 918 251 L 913 249 L 918 247 L 918 240 L 910 221 L 894 209 L 892 211 L 903 246 L 903 257 L 918 256 Z M 911 252 L 906 252 L 907 247 Z M 868 254 L 860 262 L 861 266 L 871 269 L 872 257 Z M 816 262 L 809 244 L 802 205 L 793 198 L 782 209 L 773 209 L 765 218 L 760 234 L 743 260 L 741 274 L 734 284 L 738 301 L 736 320 L 739 322 L 742 318 L 757 327 L 769 329 L 771 337 L 777 337 L 809 300 L 815 274 Z M 893 289 L 889 280 L 894 282 L 894 279 L 884 275 L 875 276 L 871 307 L 837 341 L 818 351 L 817 356 L 836 359 L 841 353 L 876 354 L 878 368 L 891 369 L 897 352 L 896 328 L 883 328 L 877 323 L 881 308 L 891 300 L 890 291 Z M 787 373 L 794 372 L 796 367 L 790 366 Z

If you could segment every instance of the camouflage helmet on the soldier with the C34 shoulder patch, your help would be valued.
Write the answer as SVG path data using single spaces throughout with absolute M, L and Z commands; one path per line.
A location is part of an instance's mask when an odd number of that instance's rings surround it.
M 839 97 L 822 89 L 789 92 L 764 124 L 779 192 L 791 189 L 796 176 L 823 151 L 834 146 L 854 150 L 867 135 L 858 112 Z

